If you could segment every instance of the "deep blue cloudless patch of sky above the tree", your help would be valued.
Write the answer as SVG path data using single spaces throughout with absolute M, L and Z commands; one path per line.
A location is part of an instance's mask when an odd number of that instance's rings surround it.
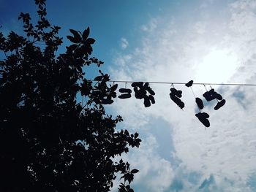
M 20 12 L 35 14 L 33 1 L 4 1 L 1 0 L 1 25 L 3 30 L 18 29 L 18 15 Z M 118 50 L 121 38 L 132 39 L 129 47 L 138 45 L 143 36 L 140 26 L 157 15 L 167 11 L 176 11 L 178 1 L 48 1 L 48 18 L 61 26 L 62 37 L 69 33 L 69 28 L 83 31 L 87 26 L 91 28 L 91 37 L 97 40 L 94 54 L 104 61 L 111 58 Z M 15 27 L 16 26 L 16 27 Z M 110 62 L 108 62 L 110 64 Z

